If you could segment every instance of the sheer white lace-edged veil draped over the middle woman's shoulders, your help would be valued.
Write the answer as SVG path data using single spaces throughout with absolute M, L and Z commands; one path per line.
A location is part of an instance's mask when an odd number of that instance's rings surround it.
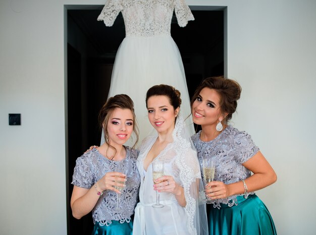
M 203 191 L 201 185 L 201 171 L 196 151 L 191 145 L 190 137 L 185 137 L 184 120 L 178 116 L 173 131 L 173 142 L 153 160 L 165 163 L 172 162 L 172 176 L 183 187 L 186 200 L 185 211 L 188 216 L 187 228 L 190 234 L 208 234 L 205 206 L 199 201 L 198 190 Z M 148 136 L 144 139 L 138 162 L 143 162 L 146 153 L 151 148 L 157 136 Z M 140 164 L 143 167 L 143 164 Z M 140 170 L 143 180 L 144 172 Z

